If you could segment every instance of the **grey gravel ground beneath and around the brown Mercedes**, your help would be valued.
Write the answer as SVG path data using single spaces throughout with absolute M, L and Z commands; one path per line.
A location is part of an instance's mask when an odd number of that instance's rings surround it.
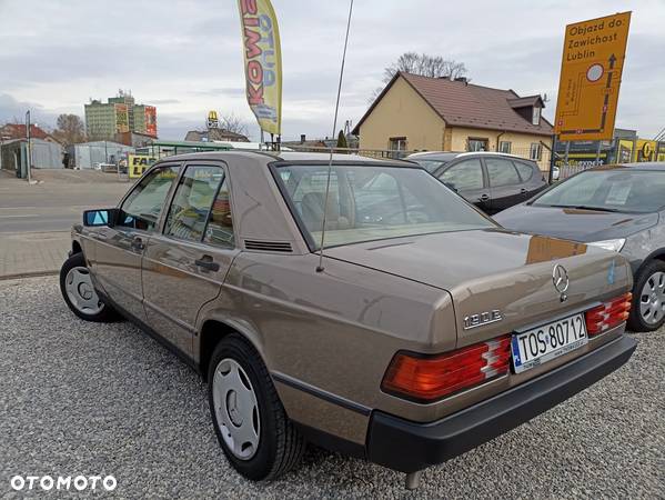
M 318 449 L 256 484 L 226 464 L 205 387 L 178 358 L 130 323 L 78 320 L 54 277 L 0 281 L 0 497 L 14 474 L 113 474 L 108 497 L 665 498 L 665 332 L 635 338 L 621 370 L 429 469 L 415 492 Z

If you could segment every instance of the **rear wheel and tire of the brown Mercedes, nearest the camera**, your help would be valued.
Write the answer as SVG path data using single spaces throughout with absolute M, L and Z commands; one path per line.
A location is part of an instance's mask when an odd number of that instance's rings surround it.
M 259 353 L 239 334 L 222 339 L 212 354 L 208 400 L 220 446 L 243 477 L 272 480 L 299 463 L 305 441 Z

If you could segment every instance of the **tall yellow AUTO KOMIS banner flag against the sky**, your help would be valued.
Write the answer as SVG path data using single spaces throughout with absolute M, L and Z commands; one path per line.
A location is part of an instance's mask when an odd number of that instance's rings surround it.
M 278 18 L 270 0 L 238 0 L 248 102 L 259 127 L 282 129 L 282 52 Z

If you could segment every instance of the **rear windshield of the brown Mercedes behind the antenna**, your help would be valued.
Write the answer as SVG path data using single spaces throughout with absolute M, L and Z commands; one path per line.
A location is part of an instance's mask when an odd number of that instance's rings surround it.
M 283 166 L 276 172 L 310 247 L 319 249 L 328 166 Z M 332 167 L 325 247 L 494 227 L 422 169 Z

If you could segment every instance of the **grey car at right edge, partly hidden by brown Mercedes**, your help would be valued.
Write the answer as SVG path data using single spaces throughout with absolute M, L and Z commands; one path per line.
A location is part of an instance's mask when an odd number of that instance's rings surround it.
M 649 331 L 665 322 L 665 163 L 593 168 L 495 220 L 619 252 L 635 277 L 629 328 Z

